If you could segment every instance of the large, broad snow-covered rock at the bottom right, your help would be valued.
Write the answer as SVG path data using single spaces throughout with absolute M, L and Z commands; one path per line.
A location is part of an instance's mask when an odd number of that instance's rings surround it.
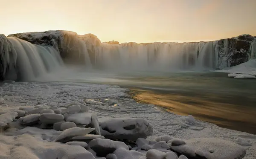
M 189 139 L 186 144 L 172 146 L 169 143 L 169 146 L 172 151 L 186 154 L 189 158 L 242 159 L 246 153 L 245 148 L 236 143 L 211 138 Z M 214 152 L 210 153 L 209 150 Z

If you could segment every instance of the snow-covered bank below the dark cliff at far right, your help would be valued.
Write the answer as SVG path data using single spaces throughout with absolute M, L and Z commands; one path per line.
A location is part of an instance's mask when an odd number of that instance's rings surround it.
M 226 68 L 215 70 L 214 72 L 226 72 L 228 77 L 231 78 L 256 78 L 256 60 L 250 59 L 242 64 Z

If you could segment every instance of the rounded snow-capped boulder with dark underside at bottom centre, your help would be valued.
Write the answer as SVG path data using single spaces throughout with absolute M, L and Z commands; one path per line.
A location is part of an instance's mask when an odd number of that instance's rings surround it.
M 109 153 L 113 153 L 117 148 L 129 150 L 125 143 L 112 141 L 110 139 L 93 139 L 88 145 L 99 157 L 105 157 Z

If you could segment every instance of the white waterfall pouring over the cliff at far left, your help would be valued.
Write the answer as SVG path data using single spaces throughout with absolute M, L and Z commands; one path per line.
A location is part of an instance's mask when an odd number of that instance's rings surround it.
M 8 37 L 8 40 L 17 52 L 15 68 L 20 80 L 33 80 L 47 72 L 51 72 L 63 63 L 59 53 L 52 47 L 39 46 L 12 37 Z

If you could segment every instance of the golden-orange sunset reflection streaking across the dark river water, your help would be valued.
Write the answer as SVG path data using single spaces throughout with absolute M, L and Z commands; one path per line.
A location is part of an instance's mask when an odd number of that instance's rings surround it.
M 196 119 L 208 121 L 220 127 L 256 134 L 256 110 L 253 107 L 238 107 L 233 102 L 218 102 L 216 94 L 186 95 L 131 88 L 132 97 L 139 102 L 163 107 L 178 115 L 191 114 Z M 241 100 L 241 99 L 237 99 Z

